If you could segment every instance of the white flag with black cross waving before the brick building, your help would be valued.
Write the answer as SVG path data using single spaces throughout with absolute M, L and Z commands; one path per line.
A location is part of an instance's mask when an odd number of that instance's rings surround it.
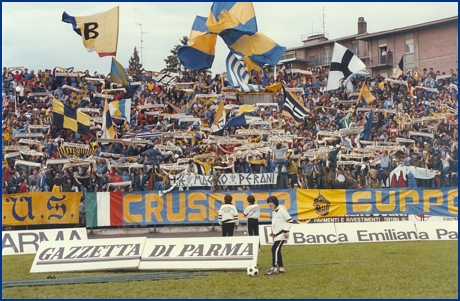
M 338 43 L 334 43 L 326 89 L 328 91 L 338 89 L 341 79 L 346 79 L 362 69 L 365 70 L 366 65 L 353 52 Z

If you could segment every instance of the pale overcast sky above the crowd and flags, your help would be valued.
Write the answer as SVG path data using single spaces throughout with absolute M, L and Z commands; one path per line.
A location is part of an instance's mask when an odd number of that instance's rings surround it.
M 107 74 L 111 57 L 87 52 L 72 25 L 61 21 L 120 7 L 116 59 L 128 67 L 134 47 L 146 70 L 160 71 L 170 50 L 189 36 L 197 15 L 207 17 L 212 2 L 2 2 L 2 67 L 29 70 L 74 67 Z M 458 15 L 457 2 L 254 2 L 259 32 L 286 48 L 302 46 L 302 36 L 325 33 L 330 40 L 357 34 L 358 18 L 375 33 Z M 142 24 L 139 25 L 139 24 Z M 141 34 L 141 32 L 143 32 Z M 142 48 L 141 48 L 142 37 Z M 213 73 L 225 71 L 228 49 L 218 38 Z

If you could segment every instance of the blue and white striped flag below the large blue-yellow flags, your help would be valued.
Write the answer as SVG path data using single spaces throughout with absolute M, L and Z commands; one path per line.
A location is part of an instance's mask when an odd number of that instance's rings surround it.
M 227 78 L 230 86 L 235 89 L 238 89 L 241 92 L 261 92 L 261 85 L 250 85 L 249 82 L 249 72 L 246 69 L 246 66 L 238 60 L 238 58 L 233 54 L 229 53 L 227 60 L 225 61 L 227 67 Z

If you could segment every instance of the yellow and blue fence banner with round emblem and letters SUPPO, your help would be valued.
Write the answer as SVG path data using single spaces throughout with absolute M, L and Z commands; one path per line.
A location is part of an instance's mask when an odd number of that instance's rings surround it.
M 458 189 L 297 190 L 299 220 L 356 214 L 458 216 Z

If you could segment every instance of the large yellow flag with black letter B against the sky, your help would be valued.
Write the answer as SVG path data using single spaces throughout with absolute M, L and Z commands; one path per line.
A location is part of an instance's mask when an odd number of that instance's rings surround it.
M 96 51 L 100 57 L 115 56 L 118 45 L 119 7 L 84 17 L 72 17 L 62 13 L 62 21 L 70 23 L 83 40 L 88 51 Z

